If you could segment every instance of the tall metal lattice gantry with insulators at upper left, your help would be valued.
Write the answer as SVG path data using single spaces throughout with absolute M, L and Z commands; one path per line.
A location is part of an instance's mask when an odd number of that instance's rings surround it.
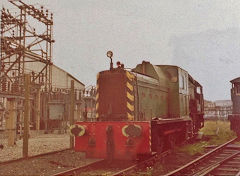
M 24 73 L 31 74 L 32 83 L 51 91 L 53 14 L 21 0 L 9 2 L 19 12 L 1 10 L 0 91 L 18 92 Z

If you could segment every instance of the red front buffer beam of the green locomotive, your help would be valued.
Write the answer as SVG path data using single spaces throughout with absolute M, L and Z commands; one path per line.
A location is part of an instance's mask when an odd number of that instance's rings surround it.
M 86 127 L 86 134 L 76 137 L 76 151 L 86 152 L 91 158 L 134 159 L 151 153 L 151 126 L 149 122 L 78 122 Z M 134 135 L 135 125 L 141 127 Z M 129 128 L 129 131 L 127 131 Z M 132 129 L 130 129 L 132 128 Z M 129 136 L 127 133 L 132 133 Z

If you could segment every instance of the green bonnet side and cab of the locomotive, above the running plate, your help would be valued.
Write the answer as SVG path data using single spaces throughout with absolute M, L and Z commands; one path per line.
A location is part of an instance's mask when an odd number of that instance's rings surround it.
M 202 86 L 187 71 L 172 65 L 152 65 L 143 61 L 132 70 L 158 81 L 150 87 L 138 81 L 139 113 L 143 119 L 188 118 L 203 126 Z

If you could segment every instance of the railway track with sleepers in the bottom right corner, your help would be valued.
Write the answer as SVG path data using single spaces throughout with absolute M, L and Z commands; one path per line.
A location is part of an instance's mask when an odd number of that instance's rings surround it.
M 165 176 L 240 176 L 239 147 L 234 138 Z

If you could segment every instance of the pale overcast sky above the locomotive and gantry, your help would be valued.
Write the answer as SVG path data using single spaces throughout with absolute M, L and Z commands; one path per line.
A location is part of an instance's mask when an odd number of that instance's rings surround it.
M 239 0 L 32 0 L 54 14 L 53 62 L 85 85 L 114 62 L 187 70 L 208 100 L 230 99 L 240 76 Z M 0 5 L 13 8 L 7 0 Z

